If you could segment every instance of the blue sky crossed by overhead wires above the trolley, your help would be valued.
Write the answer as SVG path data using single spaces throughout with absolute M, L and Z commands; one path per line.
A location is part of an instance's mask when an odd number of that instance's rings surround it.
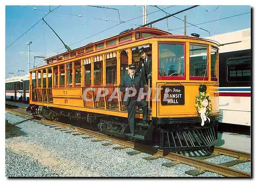
M 99 5 L 100 6 L 100 5 Z M 142 16 L 142 6 L 105 6 L 119 9 L 121 21 L 127 21 Z M 175 13 L 190 6 L 161 6 L 167 13 Z M 169 8 L 167 8 L 169 7 Z M 65 51 L 63 44 L 47 27 L 42 20 L 38 22 L 24 36 L 23 35 L 37 21 L 44 17 L 49 6 L 6 6 L 6 34 L 5 34 L 5 53 L 6 53 L 6 77 L 9 72 L 17 74 L 17 70 L 25 70 L 28 73 L 28 46 L 27 42 L 32 41 L 31 49 L 31 68 L 33 67 L 33 56 L 51 57 Z M 36 10 L 34 10 L 36 8 Z M 51 6 L 54 10 L 57 6 Z M 147 13 L 158 11 L 156 7 L 147 6 Z M 250 6 L 199 6 L 186 12 L 175 15 L 177 18 L 184 19 L 187 22 L 198 24 L 200 28 L 210 32 L 210 35 L 217 35 L 251 27 L 251 7 Z M 249 13 L 248 13 L 249 12 Z M 246 14 L 243 14 L 246 13 Z M 239 15 L 243 14 L 243 15 Z M 81 17 L 79 17 L 79 15 Z M 239 15 L 239 16 L 235 16 Z M 147 22 L 166 16 L 162 11 L 152 13 L 147 16 Z M 235 17 L 230 17 L 235 16 Z M 226 18 L 230 17 L 230 18 Z M 173 34 L 183 34 L 184 22 L 175 17 L 168 18 L 169 32 Z M 226 18 L 226 19 L 222 19 Z M 103 19 L 103 20 L 101 20 Z M 220 20 L 221 19 L 221 20 Z M 142 17 L 127 21 L 113 27 L 119 23 L 118 12 L 116 10 L 101 9 L 89 6 L 60 6 L 49 15 L 45 20 L 51 25 L 54 31 L 61 39 L 71 47 L 71 49 L 86 45 L 89 42 L 95 42 L 119 34 L 121 31 L 131 28 L 137 28 L 142 24 Z M 105 21 L 108 20 L 108 21 Z M 217 20 L 217 21 L 213 21 Z M 153 24 L 161 30 L 168 31 L 166 19 Z M 213 21 L 205 23 L 208 21 Z M 188 26 L 189 24 L 187 24 Z M 179 29 L 180 28 L 180 29 Z M 106 31 L 104 31 L 106 30 Z M 96 33 L 104 31 L 98 35 Z M 187 27 L 187 35 L 198 33 L 201 37 L 209 36 L 209 33 L 196 27 Z M 14 42 L 14 43 L 13 43 Z M 76 43 L 77 42 L 77 43 Z M 13 43 L 12 45 L 10 45 Z M 43 65 L 45 62 L 37 58 L 35 65 Z

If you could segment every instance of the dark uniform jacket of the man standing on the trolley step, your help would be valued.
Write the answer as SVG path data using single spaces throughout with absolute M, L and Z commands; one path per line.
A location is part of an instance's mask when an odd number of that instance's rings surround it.
M 136 95 L 138 96 L 140 88 L 143 88 L 143 86 L 144 86 L 143 82 L 141 80 L 141 76 L 140 76 L 139 73 L 136 73 L 134 75 L 134 86 L 137 89 L 137 94 Z M 119 88 L 120 88 L 120 91 L 123 92 L 123 98 L 122 99 L 124 99 L 125 88 L 127 88 L 127 87 L 132 87 L 132 82 L 131 82 L 130 74 L 124 75 L 121 78 L 121 82 L 120 82 Z M 129 105 L 130 98 L 131 97 L 128 97 L 127 101 L 123 101 L 125 106 Z

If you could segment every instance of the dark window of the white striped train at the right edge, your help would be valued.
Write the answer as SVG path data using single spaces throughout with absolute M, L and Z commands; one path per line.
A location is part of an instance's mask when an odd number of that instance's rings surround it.
M 229 58 L 227 60 L 228 82 L 250 82 L 251 81 L 251 57 Z

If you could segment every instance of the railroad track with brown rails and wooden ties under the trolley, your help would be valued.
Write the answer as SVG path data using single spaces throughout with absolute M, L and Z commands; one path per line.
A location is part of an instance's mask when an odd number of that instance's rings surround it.
M 66 124 L 66 123 L 61 123 L 61 122 L 58 122 L 58 121 L 47 120 L 47 119 L 44 119 L 44 118 L 41 118 L 41 117 L 38 117 L 38 116 L 30 115 L 30 114 L 25 113 L 25 112 L 16 111 L 16 110 L 13 110 L 13 109 L 8 109 L 8 108 L 6 108 L 6 111 L 8 111 L 10 113 L 13 113 L 13 114 L 17 114 L 17 115 L 22 115 L 22 116 L 26 116 L 26 117 L 29 117 L 29 118 L 34 118 L 35 120 L 38 120 L 38 122 L 40 124 L 51 125 L 50 127 L 55 127 L 55 128 L 58 127 L 58 129 L 67 128 L 67 129 L 70 130 L 69 133 L 76 132 L 76 133 L 78 133 L 77 135 L 79 135 L 79 133 L 80 133 L 80 134 L 86 134 L 86 135 L 89 135 L 91 137 L 98 138 L 97 140 L 94 140 L 94 142 L 102 141 L 102 140 L 109 141 L 109 143 L 104 143 L 102 145 L 112 145 L 114 143 L 121 145 L 121 147 L 114 147 L 114 149 L 133 148 L 135 151 L 127 152 L 130 155 L 137 154 L 137 153 L 140 153 L 140 152 L 145 152 L 145 153 L 152 154 L 151 157 L 143 158 L 145 160 L 154 160 L 154 159 L 158 159 L 158 158 L 166 158 L 166 159 L 172 160 L 173 162 L 171 162 L 171 163 L 162 164 L 163 166 L 166 166 L 166 167 L 171 167 L 171 166 L 174 166 L 174 165 L 177 165 L 177 164 L 186 164 L 186 165 L 196 167 L 197 169 L 185 172 L 186 174 L 189 174 L 189 175 L 197 176 L 197 175 L 202 174 L 206 171 L 209 171 L 209 172 L 217 173 L 217 174 L 227 176 L 227 177 L 250 177 L 251 176 L 249 173 L 229 168 L 229 167 L 231 167 L 233 165 L 236 165 L 236 164 L 251 161 L 250 154 L 246 153 L 246 152 L 241 152 L 241 151 L 236 151 L 236 150 L 231 150 L 231 149 L 216 146 L 214 152 L 210 156 L 206 156 L 206 157 L 187 157 L 185 155 L 178 154 L 178 153 L 173 153 L 173 152 L 165 153 L 163 150 L 157 149 L 155 147 L 151 147 L 151 146 L 147 146 L 147 145 L 143 145 L 143 144 L 139 144 L 139 143 L 135 144 L 134 142 L 122 140 L 120 138 L 116 138 L 116 137 L 113 137 L 113 136 L 112 137 L 106 136 L 104 134 L 94 132 L 94 131 L 90 131 L 90 130 L 85 129 L 85 128 L 73 126 L 71 124 Z M 230 156 L 230 157 L 237 158 L 237 160 L 222 163 L 222 164 L 214 164 L 214 163 L 210 163 L 210 162 L 207 162 L 207 161 L 203 161 L 204 159 L 216 157 L 218 155 L 227 155 L 227 156 Z

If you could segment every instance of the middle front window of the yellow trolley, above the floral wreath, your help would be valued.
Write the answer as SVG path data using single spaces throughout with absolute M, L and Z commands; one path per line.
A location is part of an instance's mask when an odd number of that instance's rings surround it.
M 208 77 L 207 46 L 190 44 L 189 53 L 190 80 L 195 78 L 191 76 L 200 76 L 202 77 L 201 79 Z M 195 79 L 197 80 L 197 78 Z

